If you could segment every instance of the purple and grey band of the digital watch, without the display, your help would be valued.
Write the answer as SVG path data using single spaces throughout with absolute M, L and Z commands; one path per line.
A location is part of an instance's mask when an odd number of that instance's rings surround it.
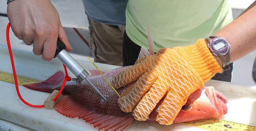
M 214 37 L 220 37 L 220 36 L 212 35 L 212 36 L 207 37 L 206 39 L 209 42 L 208 48 L 210 49 L 211 52 L 215 53 L 217 56 L 219 56 L 222 59 L 222 61 L 223 61 L 223 66 L 222 66 L 223 70 L 229 70 L 230 67 L 228 66 L 228 64 L 230 63 L 230 51 L 229 51 L 230 50 L 230 45 L 228 45 L 228 51 L 227 51 L 228 60 L 226 60 L 221 53 L 211 50 L 212 39 L 210 37 L 214 38 Z M 225 39 L 224 37 L 221 37 L 221 38 Z

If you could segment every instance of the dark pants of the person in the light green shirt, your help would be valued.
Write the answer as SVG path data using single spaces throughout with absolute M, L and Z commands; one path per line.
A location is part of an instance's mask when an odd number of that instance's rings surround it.
M 132 42 L 132 40 L 124 33 L 123 42 L 123 66 L 134 65 L 138 59 L 141 47 Z M 212 80 L 231 82 L 233 63 L 229 64 L 230 69 L 223 73 L 216 73 Z

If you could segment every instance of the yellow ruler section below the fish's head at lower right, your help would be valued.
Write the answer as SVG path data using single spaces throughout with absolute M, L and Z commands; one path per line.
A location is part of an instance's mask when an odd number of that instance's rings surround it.
M 237 122 L 231 122 L 215 118 L 181 122 L 181 124 L 208 129 L 212 131 L 256 131 L 255 126 L 239 124 Z

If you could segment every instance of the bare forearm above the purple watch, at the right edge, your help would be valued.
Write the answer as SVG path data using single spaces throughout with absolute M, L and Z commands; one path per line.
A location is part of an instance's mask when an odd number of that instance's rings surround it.
M 231 45 L 230 63 L 256 49 L 256 2 L 237 19 L 229 23 L 215 35 L 224 37 Z M 215 57 L 216 58 L 216 57 Z M 216 58 L 222 66 L 221 59 Z

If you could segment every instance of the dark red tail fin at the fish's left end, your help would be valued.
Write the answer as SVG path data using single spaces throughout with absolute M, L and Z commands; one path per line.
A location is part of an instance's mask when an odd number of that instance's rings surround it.
M 27 84 L 23 86 L 35 91 L 52 93 L 53 90 L 55 89 L 54 86 L 62 84 L 64 79 L 65 79 L 65 74 L 62 71 L 58 71 L 57 73 L 55 73 L 55 75 L 53 75 L 46 81 Z

